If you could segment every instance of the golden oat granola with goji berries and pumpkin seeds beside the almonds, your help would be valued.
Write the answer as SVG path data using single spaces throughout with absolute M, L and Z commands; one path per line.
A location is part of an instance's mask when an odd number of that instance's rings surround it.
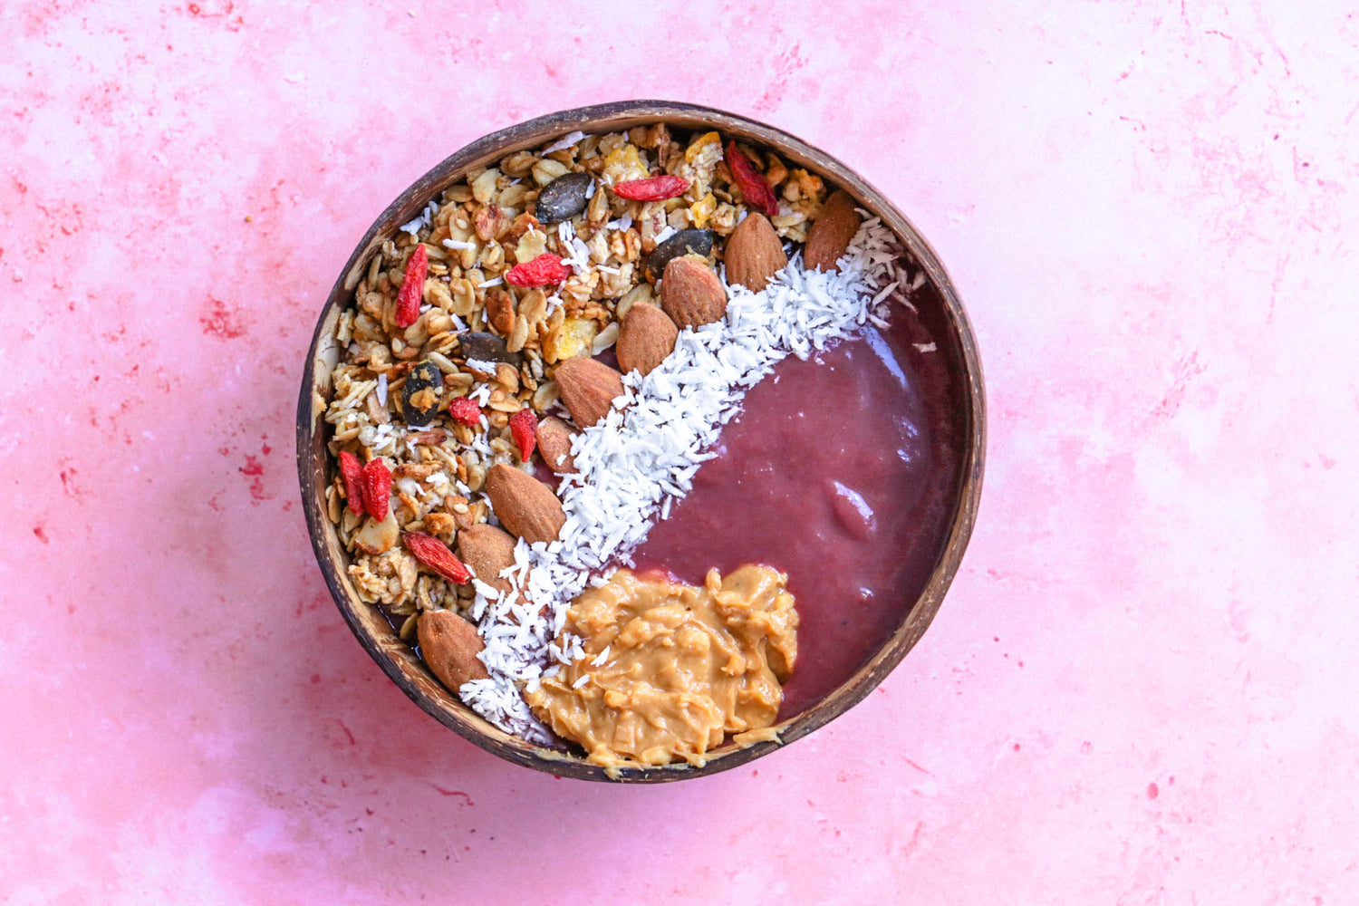
M 613 346 L 628 310 L 656 297 L 666 261 L 723 259 L 724 238 L 752 206 L 731 147 L 716 132 L 684 137 L 663 124 L 573 133 L 469 171 L 372 257 L 337 326 L 342 355 L 325 418 L 333 455 L 381 458 L 390 470 L 390 508 L 353 505 L 340 474 L 326 503 L 355 587 L 405 617 L 402 638 L 414 637 L 421 611 L 465 613 L 476 592 L 417 560 L 401 532 L 451 549 L 458 532 L 488 522 L 488 470 L 533 469 L 511 417 L 554 407 L 557 367 Z M 779 238 L 805 242 L 826 200 L 821 178 L 735 147 L 772 193 L 777 209 L 764 209 Z M 641 200 L 614 190 L 660 177 L 682 192 Z M 542 276 L 545 262 L 560 280 Z M 402 326 L 401 288 L 420 272 L 408 289 L 419 291 L 419 315 Z

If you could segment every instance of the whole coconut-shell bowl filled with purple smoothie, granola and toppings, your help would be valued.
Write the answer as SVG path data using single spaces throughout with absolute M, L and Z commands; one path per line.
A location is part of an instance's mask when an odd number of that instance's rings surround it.
M 326 583 L 423 709 L 515 763 L 726 770 L 863 698 L 976 515 L 980 363 L 906 219 L 666 102 L 481 139 L 322 312 L 298 463 Z

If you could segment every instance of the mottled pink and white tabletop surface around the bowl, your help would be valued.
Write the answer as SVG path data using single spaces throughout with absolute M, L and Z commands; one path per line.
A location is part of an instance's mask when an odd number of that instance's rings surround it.
M 1359 902 L 1352 4 L 367 5 L 0 4 L 0 902 Z M 991 456 L 878 693 L 613 788 L 381 675 L 291 436 L 387 200 L 648 95 L 906 211 Z

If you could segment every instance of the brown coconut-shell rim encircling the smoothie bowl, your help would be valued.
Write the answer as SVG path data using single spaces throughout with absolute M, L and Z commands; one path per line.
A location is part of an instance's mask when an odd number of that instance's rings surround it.
M 424 663 L 414 657 L 409 645 L 400 638 L 395 640 L 395 644 L 385 642 L 375 634 L 370 625 L 371 613 L 366 614 L 361 609 L 375 611 L 376 607 L 366 604 L 357 598 L 344 573 L 342 564 L 337 564 L 333 558 L 336 545 L 332 542 L 337 542 L 338 535 L 326 515 L 325 471 L 318 467 L 317 454 L 318 446 L 323 451 L 326 443 L 325 421 L 322 420 L 323 406 L 318 410 L 315 402 L 319 398 L 317 364 L 326 355 L 323 344 L 328 333 L 333 330 L 334 319 L 338 318 L 338 312 L 357 285 L 371 254 L 381 249 L 382 242 L 391 238 L 401 224 L 417 216 L 431 198 L 457 182 L 462 173 L 481 163 L 497 160 L 516 149 L 533 148 L 575 130 L 616 132 L 648 122 L 667 122 L 681 128 L 697 128 L 703 124 L 723 132 L 726 136 L 734 134 L 739 140 L 753 140 L 771 147 L 784 159 L 800 166 L 810 166 L 819 175 L 829 177 L 855 196 L 868 211 L 882 217 L 883 223 L 905 243 L 909 254 L 925 270 L 943 300 L 943 314 L 951 327 L 950 340 L 957 344 L 958 357 L 962 363 L 961 380 L 965 384 L 965 412 L 959 413 L 959 418 L 962 421 L 964 448 L 959 451 L 958 485 L 949 501 L 953 512 L 945 535 L 945 546 L 925 587 L 915 604 L 905 611 L 901 625 L 853 676 L 818 704 L 776 724 L 777 733 L 773 739 L 745 747 L 723 746 L 713 750 L 701 767 L 681 762 L 656 767 L 606 769 L 573 755 L 534 746 L 500 731 L 439 685 Z M 689 125 L 685 125 L 686 122 Z M 328 383 L 329 372 L 325 372 L 321 380 Z M 945 594 L 958 572 L 976 524 L 985 462 L 985 391 L 976 337 L 953 280 L 919 230 L 863 177 L 802 139 L 741 114 L 673 101 L 620 101 L 544 114 L 482 136 L 435 164 L 382 211 L 355 246 L 317 318 L 298 399 L 296 460 L 307 532 L 336 607 L 364 651 L 378 663 L 387 678 L 425 713 L 473 744 L 516 765 L 580 780 L 666 782 L 738 767 L 821 728 L 862 701 L 916 645 L 943 603 Z M 382 625 L 386 625 L 385 618 Z M 402 664 L 406 664 L 410 672 L 404 670 Z

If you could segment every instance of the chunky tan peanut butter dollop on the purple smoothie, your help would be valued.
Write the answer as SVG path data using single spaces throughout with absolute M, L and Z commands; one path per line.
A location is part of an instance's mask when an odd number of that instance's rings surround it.
M 727 733 L 779 714 L 798 659 L 787 580 L 742 566 L 726 579 L 713 569 L 696 588 L 618 570 L 567 614 L 563 634 L 584 640 L 584 657 L 525 698 L 597 765 L 701 766 Z

